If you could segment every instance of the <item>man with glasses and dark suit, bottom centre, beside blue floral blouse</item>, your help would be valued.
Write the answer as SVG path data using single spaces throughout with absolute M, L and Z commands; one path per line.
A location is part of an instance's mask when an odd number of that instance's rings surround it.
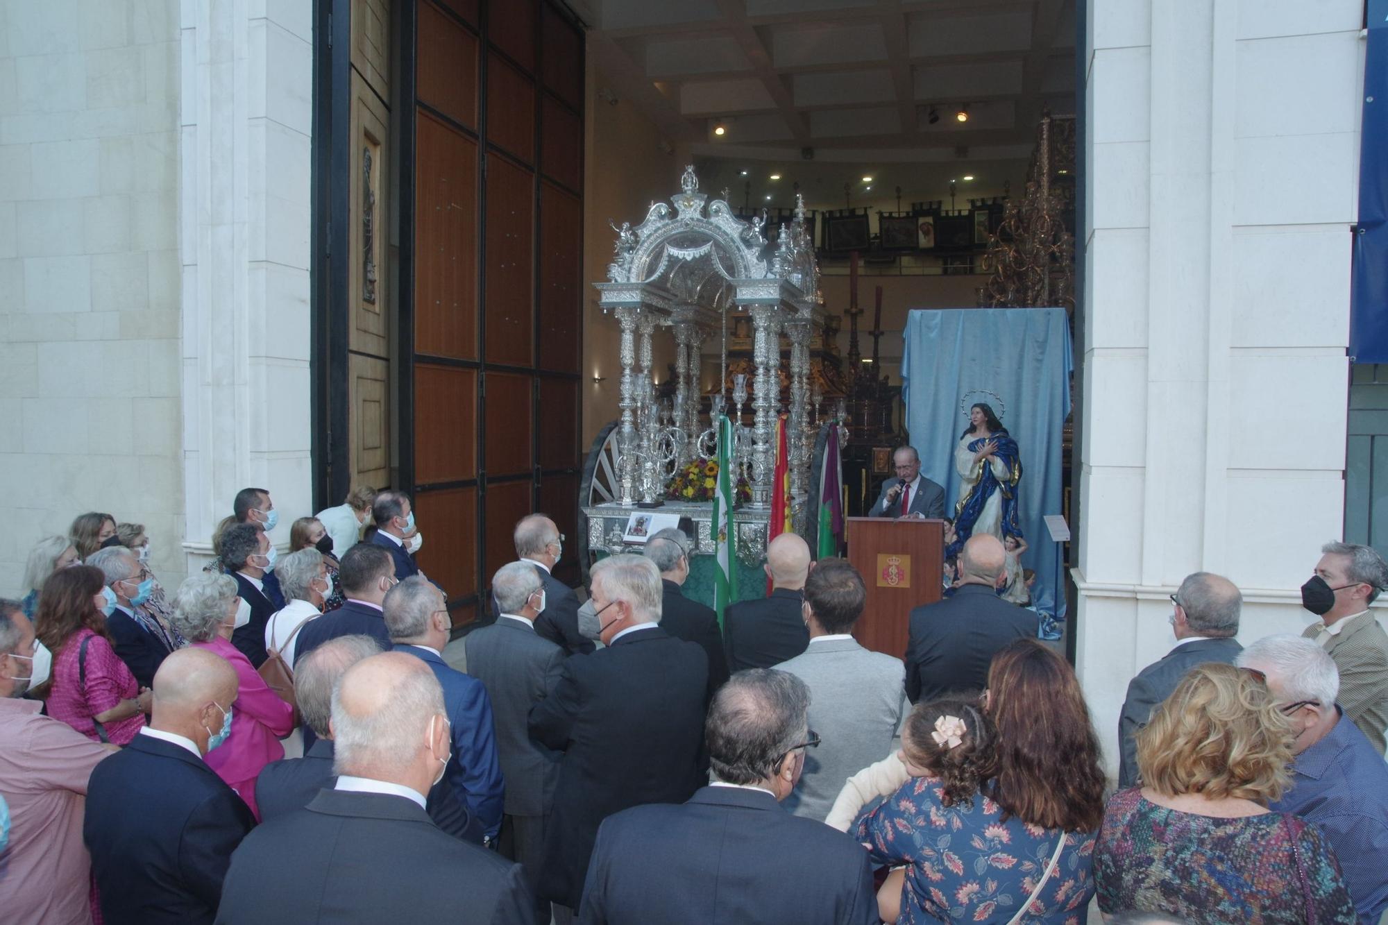
M 863 847 L 777 806 L 819 744 L 808 707 L 794 675 L 733 675 L 708 714 L 713 783 L 683 806 L 640 806 L 602 824 L 579 921 L 876 925 Z

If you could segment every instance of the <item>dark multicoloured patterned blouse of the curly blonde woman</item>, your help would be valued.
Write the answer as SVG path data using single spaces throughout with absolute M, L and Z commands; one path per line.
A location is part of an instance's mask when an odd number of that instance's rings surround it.
M 1109 797 L 1094 854 L 1099 910 L 1190 922 L 1345 922 L 1355 904 L 1320 829 L 1289 812 L 1219 818 Z

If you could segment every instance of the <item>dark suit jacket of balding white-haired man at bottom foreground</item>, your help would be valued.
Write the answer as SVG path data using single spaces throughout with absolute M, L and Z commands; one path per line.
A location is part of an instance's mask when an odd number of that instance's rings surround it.
M 412 800 L 322 790 L 271 819 L 226 874 L 218 924 L 533 922 L 520 865 L 448 838 Z

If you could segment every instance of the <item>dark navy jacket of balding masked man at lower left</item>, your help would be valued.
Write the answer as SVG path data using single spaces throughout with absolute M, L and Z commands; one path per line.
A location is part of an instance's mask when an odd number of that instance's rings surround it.
M 250 808 L 187 749 L 137 735 L 96 765 L 82 840 L 110 925 L 211 922 Z

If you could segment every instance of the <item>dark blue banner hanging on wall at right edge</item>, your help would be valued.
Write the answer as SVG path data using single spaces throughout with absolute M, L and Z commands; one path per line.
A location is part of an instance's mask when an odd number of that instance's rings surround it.
M 1349 356 L 1388 362 L 1388 0 L 1369 0 Z

